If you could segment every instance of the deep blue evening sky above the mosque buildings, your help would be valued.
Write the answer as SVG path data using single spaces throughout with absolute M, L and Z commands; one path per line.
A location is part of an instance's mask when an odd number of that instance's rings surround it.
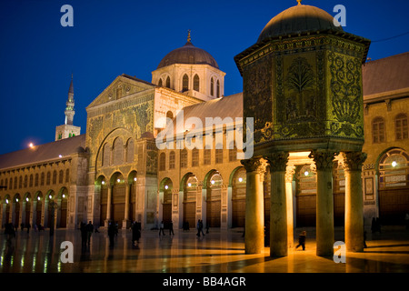
M 60 24 L 62 5 L 74 27 Z M 409 1 L 303 0 L 331 15 L 346 8 L 346 32 L 369 38 L 373 60 L 408 51 Z M 74 73 L 74 124 L 86 129 L 85 107 L 117 75 L 151 81 L 171 50 L 192 42 L 226 73 L 224 95 L 242 92 L 234 55 L 254 45 L 264 25 L 295 0 L 2 0 L 0 1 L 0 154 L 55 139 L 64 124 Z

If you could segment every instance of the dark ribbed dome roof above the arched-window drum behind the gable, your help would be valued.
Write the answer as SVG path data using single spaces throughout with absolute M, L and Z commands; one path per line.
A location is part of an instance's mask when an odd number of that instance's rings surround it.
M 219 68 L 212 55 L 204 49 L 193 45 L 190 40 L 184 46 L 176 48 L 165 55 L 157 68 L 174 64 L 212 65 L 215 68 Z

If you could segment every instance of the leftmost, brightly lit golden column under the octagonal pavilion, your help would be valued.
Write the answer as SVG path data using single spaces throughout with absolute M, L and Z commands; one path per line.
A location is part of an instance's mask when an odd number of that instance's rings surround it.
M 242 160 L 246 171 L 245 189 L 245 254 L 261 254 L 264 250 L 264 171 L 262 158 Z

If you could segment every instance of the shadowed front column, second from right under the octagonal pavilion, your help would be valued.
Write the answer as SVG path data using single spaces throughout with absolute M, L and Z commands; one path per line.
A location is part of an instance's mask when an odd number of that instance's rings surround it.
M 316 256 L 334 255 L 334 156 L 331 150 L 310 154 L 316 166 Z

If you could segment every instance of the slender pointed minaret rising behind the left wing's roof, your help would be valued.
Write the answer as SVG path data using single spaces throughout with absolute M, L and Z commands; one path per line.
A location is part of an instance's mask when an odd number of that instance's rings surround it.
M 55 127 L 55 140 L 81 134 L 81 127 L 73 125 L 75 115 L 73 75 L 71 75 L 71 84 L 68 89 L 68 99 L 66 100 L 65 105 L 65 124 Z

